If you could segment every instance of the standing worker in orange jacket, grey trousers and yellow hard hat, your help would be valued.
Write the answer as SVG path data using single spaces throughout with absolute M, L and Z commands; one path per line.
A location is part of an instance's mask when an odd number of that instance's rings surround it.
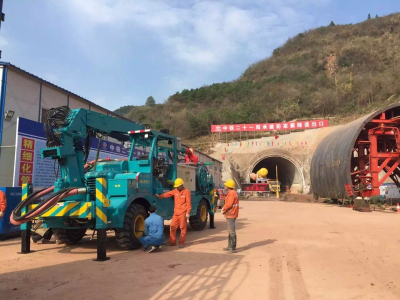
M 239 197 L 235 191 L 235 182 L 229 179 L 225 182 L 225 189 L 228 191 L 225 197 L 225 205 L 222 208 L 222 214 L 225 216 L 228 223 L 228 247 L 224 251 L 229 253 L 236 252 L 236 228 L 235 222 L 239 216 Z

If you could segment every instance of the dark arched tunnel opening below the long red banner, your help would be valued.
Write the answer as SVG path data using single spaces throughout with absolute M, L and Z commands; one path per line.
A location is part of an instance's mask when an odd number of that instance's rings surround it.
M 278 166 L 278 179 L 281 183 L 281 191 L 286 191 L 289 186 L 292 192 L 298 192 L 303 187 L 303 175 L 299 168 L 290 160 L 279 157 L 270 156 L 260 160 L 253 168 L 252 173 L 256 173 L 261 168 L 268 170 L 268 179 L 276 179 L 276 166 Z M 254 183 L 254 180 L 250 182 Z

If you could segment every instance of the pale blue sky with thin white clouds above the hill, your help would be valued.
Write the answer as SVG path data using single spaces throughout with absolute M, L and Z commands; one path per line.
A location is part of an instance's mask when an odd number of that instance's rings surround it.
M 240 77 L 288 38 L 394 0 L 4 0 L 2 61 L 110 110 Z

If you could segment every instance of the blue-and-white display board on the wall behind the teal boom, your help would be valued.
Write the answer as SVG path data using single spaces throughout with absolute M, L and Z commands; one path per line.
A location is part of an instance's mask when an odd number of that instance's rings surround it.
M 99 140 L 92 138 L 88 161 L 96 158 Z M 60 175 L 57 162 L 51 158 L 41 158 L 40 150 L 46 148 L 46 135 L 43 124 L 18 118 L 17 139 L 14 165 L 14 186 L 32 183 L 34 187 L 49 187 L 54 185 L 56 176 Z M 128 158 L 129 150 L 121 144 L 101 141 L 99 158 Z M 136 151 L 136 155 L 144 154 Z

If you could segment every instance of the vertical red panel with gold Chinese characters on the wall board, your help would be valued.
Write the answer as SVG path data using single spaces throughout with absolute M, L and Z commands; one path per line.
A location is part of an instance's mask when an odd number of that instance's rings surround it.
M 35 140 L 22 138 L 18 178 L 20 186 L 24 183 L 32 183 L 34 151 Z

